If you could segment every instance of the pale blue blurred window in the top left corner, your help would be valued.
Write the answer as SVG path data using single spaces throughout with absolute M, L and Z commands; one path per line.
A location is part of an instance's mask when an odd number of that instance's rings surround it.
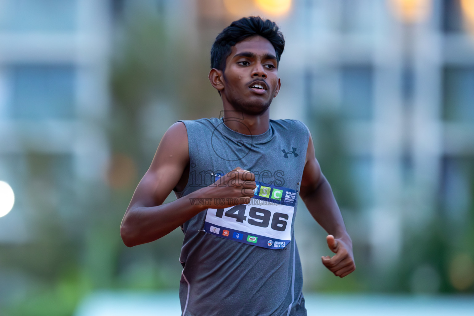
M 0 30 L 73 31 L 77 0 L 0 1 Z

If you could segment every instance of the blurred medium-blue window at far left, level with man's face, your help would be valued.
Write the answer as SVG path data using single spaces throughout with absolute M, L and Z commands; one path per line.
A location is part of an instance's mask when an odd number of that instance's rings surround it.
M 10 69 L 9 116 L 72 118 L 75 69 L 71 65 L 17 65 Z

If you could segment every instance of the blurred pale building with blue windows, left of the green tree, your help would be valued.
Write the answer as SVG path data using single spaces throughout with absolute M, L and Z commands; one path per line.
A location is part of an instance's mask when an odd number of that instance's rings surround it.
M 68 219 L 77 179 L 107 158 L 109 7 L 93 0 L 0 1 L 0 179 L 17 203 L 0 243 L 35 239 L 39 205 Z M 38 202 L 38 199 L 43 200 Z M 64 210 L 61 212 L 61 210 Z

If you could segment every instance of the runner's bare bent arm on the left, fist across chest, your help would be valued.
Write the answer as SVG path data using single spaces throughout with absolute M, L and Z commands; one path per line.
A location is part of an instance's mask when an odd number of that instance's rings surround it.
M 250 202 L 255 189 L 255 176 L 236 168 L 220 180 L 225 186 L 201 188 L 163 205 L 164 199 L 177 185 L 188 165 L 186 127 L 182 122 L 177 122 L 164 134 L 150 168 L 138 184 L 123 217 L 120 235 L 128 247 L 161 238 L 202 210 L 213 207 L 192 205 L 191 198 L 243 198 L 246 201 L 248 199 L 247 203 Z M 226 204 L 225 207 L 228 206 L 231 205 Z

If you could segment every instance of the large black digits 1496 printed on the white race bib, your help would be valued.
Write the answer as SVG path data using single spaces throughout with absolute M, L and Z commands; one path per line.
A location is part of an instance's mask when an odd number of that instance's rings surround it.
M 252 207 L 250 208 L 248 214 L 250 218 L 247 219 L 245 216 L 245 209 L 246 205 L 239 204 L 233 208 L 229 208 L 224 214 L 224 208 L 218 208 L 216 211 L 216 217 L 232 217 L 235 218 L 239 223 L 243 223 L 246 220 L 248 224 L 259 227 L 268 227 L 270 224 L 270 219 L 272 219 L 270 227 L 273 230 L 283 232 L 286 229 L 286 220 L 288 219 L 288 214 L 275 212 L 273 213 L 272 217 L 272 212 L 270 212 L 268 209 Z

